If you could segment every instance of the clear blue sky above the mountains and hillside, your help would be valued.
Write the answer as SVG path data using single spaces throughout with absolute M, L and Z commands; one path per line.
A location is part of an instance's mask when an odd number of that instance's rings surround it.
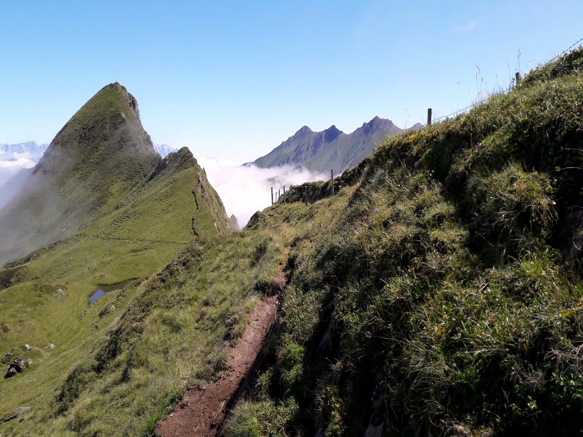
M 303 125 L 445 115 L 583 38 L 573 1 L 0 0 L 0 143 L 117 80 L 154 142 L 257 158 Z M 521 53 L 518 59 L 518 54 Z M 483 78 L 483 81 L 482 81 Z

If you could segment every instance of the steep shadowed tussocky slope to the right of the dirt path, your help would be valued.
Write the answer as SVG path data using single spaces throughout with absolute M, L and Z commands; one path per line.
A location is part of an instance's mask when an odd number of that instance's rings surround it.
M 583 433 L 583 285 L 563 262 L 581 66 L 580 48 L 387 140 L 337 198 L 252 218 L 298 231 L 272 365 L 229 435 Z

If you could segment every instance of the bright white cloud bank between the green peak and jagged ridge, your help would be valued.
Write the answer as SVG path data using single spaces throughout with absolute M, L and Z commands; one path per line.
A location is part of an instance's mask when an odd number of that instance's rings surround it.
M 288 189 L 290 185 L 322 181 L 328 175 L 290 165 L 259 168 L 255 165 L 241 167 L 245 161 L 234 158 L 205 158 L 195 156 L 198 164 L 205 168 L 210 184 L 223 200 L 227 214 L 235 214 L 241 227 L 251 216 L 271 205 L 273 191 Z

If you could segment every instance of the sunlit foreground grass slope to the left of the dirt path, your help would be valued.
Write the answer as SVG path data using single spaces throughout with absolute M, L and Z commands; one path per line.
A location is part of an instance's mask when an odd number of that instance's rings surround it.
M 100 320 L 104 329 L 87 339 L 90 352 L 57 393 L 3 431 L 149 435 L 189 386 L 220 371 L 247 313 L 275 287 L 285 244 L 262 232 L 197 237 L 160 274 L 98 301 L 93 319 L 111 302 L 124 307 L 135 297 L 121 317 Z

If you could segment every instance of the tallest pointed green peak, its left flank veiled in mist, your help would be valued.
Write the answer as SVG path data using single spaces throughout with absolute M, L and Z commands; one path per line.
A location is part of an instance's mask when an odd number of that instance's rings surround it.
M 32 177 L 0 210 L 0 264 L 110 213 L 160 160 L 134 96 L 117 82 L 103 87 L 57 133 Z

